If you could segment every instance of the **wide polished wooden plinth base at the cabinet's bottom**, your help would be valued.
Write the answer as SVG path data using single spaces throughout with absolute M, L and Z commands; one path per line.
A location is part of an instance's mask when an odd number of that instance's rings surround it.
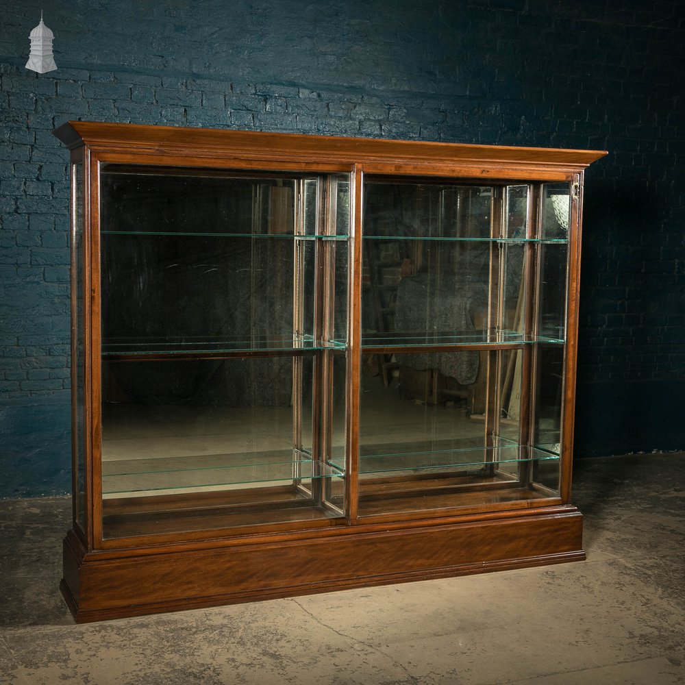
M 86 552 L 64 538 L 62 593 L 77 623 L 581 561 L 571 506 L 469 523 L 340 527 L 325 536 Z

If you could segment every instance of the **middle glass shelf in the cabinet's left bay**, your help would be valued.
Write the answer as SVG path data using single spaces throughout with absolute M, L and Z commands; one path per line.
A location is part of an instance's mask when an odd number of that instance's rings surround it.
M 262 336 L 233 338 L 227 336 L 184 338 L 108 338 L 102 343 L 102 356 L 114 358 L 179 357 L 186 355 L 221 356 L 240 352 L 294 352 L 320 349 L 345 349 L 340 340 L 315 341 L 313 336 Z

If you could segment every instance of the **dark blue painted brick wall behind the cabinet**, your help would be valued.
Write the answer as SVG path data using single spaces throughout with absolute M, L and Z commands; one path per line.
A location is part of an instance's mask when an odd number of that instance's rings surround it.
M 681 1 L 27 0 L 0 26 L 0 497 L 69 490 L 68 119 L 610 150 L 577 451 L 685 449 Z

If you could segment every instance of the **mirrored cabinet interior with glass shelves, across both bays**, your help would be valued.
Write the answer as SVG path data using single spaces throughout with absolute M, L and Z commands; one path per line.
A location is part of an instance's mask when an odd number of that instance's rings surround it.
M 103 538 L 559 496 L 571 184 L 352 184 L 101 164 Z

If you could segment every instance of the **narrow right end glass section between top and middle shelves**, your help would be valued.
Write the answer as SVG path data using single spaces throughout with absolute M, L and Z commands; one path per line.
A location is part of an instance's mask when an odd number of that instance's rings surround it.
M 547 243 L 540 251 L 540 293 L 538 334 L 551 340 L 566 338 L 566 274 L 568 245 Z

